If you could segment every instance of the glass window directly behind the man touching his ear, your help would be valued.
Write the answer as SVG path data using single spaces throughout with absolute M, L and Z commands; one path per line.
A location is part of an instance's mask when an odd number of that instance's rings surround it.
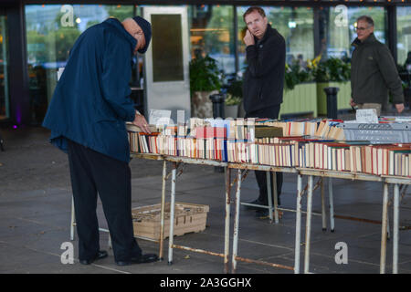
M 288 63 L 303 62 L 314 57 L 313 12 L 311 7 L 262 7 L 269 24 L 284 36 Z M 239 68 L 246 64 L 246 46 L 243 42 L 246 24 L 243 15 L 248 6 L 237 7 Z

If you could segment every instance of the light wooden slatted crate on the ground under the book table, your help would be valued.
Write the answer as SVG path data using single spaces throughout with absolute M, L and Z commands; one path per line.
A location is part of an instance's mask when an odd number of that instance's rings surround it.
M 170 235 L 170 203 L 164 208 L 164 239 Z M 174 235 L 185 235 L 205 230 L 209 206 L 197 203 L 175 203 Z M 132 209 L 134 236 L 160 240 L 161 204 Z

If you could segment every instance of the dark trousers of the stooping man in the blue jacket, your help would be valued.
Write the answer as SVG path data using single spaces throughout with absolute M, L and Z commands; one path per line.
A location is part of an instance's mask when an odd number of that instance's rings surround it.
M 97 193 L 109 224 L 115 261 L 142 255 L 132 229 L 132 183 L 127 162 L 115 160 L 68 141 L 79 259 L 92 259 L 100 250 Z

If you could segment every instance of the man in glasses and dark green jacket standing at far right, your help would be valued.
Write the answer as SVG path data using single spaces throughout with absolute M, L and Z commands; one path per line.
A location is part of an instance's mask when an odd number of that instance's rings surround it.
M 404 110 L 404 92 L 395 67 L 394 58 L 384 44 L 374 36 L 374 21 L 370 16 L 357 18 L 357 38 L 353 41 L 351 61 L 351 106 L 375 109 L 377 115 L 388 90 L 398 113 Z

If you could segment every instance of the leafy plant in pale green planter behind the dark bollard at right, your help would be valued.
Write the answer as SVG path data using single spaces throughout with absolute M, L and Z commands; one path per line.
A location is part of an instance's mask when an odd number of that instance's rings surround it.
M 327 96 L 325 88 L 336 87 L 338 91 L 337 109 L 350 109 L 351 99 L 351 64 L 340 58 L 329 58 L 320 62 L 313 70 L 317 81 L 318 113 L 327 114 Z

